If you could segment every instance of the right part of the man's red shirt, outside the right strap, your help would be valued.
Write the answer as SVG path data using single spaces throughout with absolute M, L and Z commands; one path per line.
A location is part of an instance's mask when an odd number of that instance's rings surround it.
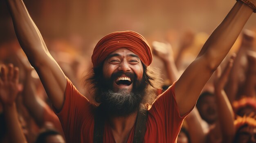
M 175 83 L 159 95 L 148 110 L 148 129 L 144 138 L 146 143 L 152 141 L 155 143 L 175 142 L 182 122 L 189 112 L 180 116 L 174 89 Z

